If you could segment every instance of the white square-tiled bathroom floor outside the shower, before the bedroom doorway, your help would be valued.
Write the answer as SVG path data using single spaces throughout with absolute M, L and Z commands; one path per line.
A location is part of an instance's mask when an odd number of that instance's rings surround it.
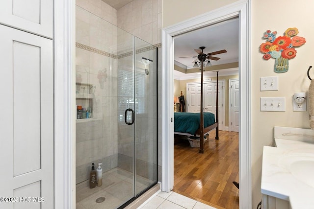
M 138 209 L 215 209 L 176 192 L 159 192 Z

